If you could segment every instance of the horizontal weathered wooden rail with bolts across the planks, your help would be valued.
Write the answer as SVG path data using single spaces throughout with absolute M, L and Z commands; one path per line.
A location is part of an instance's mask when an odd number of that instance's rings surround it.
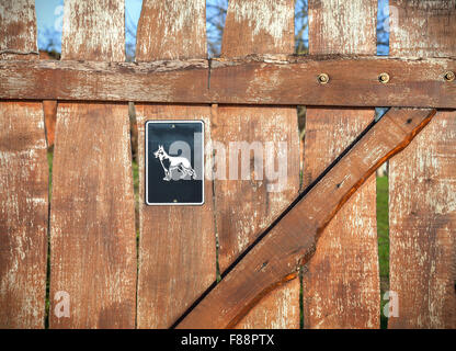
M 254 55 L 213 59 L 210 75 L 206 59 L 0 60 L 0 99 L 456 109 L 447 71 L 456 72 L 456 59 Z

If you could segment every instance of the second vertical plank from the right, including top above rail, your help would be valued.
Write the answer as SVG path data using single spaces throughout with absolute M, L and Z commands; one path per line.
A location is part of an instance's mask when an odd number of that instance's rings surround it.
M 309 1 L 312 54 L 376 53 L 377 1 Z M 307 109 L 304 184 L 374 120 L 374 110 Z M 329 224 L 303 275 L 305 328 L 378 328 L 375 174 Z

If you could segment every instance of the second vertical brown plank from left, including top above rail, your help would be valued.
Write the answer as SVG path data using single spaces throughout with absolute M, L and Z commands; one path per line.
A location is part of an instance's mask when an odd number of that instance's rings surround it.
M 123 61 L 124 0 L 66 0 L 62 59 Z M 134 328 L 135 204 L 127 104 L 60 103 L 50 211 L 50 328 Z M 58 317 L 57 292 L 69 296 Z M 61 309 L 60 309 L 61 310 Z

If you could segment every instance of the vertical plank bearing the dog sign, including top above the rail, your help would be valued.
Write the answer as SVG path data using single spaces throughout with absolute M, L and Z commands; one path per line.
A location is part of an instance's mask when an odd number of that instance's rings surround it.
M 137 60 L 205 58 L 205 1 L 145 0 Z M 213 183 L 205 179 L 203 206 L 145 203 L 145 124 L 149 120 L 203 120 L 210 149 L 207 105 L 137 104 L 140 240 L 138 328 L 169 328 L 216 280 Z M 206 156 L 207 165 L 207 156 Z

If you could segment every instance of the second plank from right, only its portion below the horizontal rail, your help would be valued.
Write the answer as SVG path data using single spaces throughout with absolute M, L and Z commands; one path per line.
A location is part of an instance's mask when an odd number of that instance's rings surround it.
M 309 110 L 305 186 L 356 138 L 373 116 L 372 110 Z M 305 328 L 378 328 L 375 204 L 374 174 L 321 236 L 317 252 L 304 271 Z

